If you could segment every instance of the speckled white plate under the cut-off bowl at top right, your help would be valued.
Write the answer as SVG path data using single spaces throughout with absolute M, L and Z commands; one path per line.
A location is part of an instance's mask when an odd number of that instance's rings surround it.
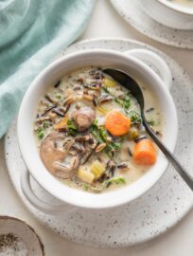
M 121 17 L 149 38 L 169 46 L 193 48 L 193 30 L 174 29 L 157 23 L 140 8 L 139 2 L 143 0 L 111 0 Z

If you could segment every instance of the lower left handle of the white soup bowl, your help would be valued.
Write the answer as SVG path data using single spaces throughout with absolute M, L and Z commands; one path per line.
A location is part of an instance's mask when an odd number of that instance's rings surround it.
M 71 211 L 76 209 L 76 207 L 70 206 L 66 203 L 62 205 L 51 205 L 51 204 L 45 203 L 40 198 L 38 198 L 31 189 L 30 174 L 27 171 L 22 172 L 20 181 L 21 181 L 22 192 L 24 192 L 28 202 L 36 209 L 49 214 L 60 214 L 61 212 L 66 212 L 66 211 Z

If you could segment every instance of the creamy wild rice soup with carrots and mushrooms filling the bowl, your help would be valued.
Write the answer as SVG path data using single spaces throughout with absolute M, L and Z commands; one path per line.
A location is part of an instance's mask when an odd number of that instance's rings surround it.
M 149 125 L 162 137 L 158 101 L 140 85 Z M 131 184 L 157 157 L 137 101 L 95 66 L 73 71 L 48 88 L 36 109 L 34 137 L 47 171 L 88 192 Z

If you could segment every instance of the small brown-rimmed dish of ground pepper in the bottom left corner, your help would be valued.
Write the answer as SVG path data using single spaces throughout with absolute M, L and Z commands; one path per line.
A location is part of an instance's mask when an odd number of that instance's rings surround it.
M 0 255 L 44 256 L 44 246 L 35 230 L 26 222 L 0 216 Z

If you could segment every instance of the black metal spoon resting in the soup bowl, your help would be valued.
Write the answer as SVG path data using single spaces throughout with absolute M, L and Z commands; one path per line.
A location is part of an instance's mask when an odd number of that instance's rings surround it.
M 140 86 L 135 82 L 132 77 L 127 75 L 126 73 L 113 69 L 113 68 L 106 68 L 102 70 L 104 73 L 110 75 L 115 81 L 122 84 L 132 93 L 132 96 L 138 101 L 141 110 L 141 118 L 143 121 L 143 125 L 146 128 L 149 137 L 151 137 L 160 150 L 166 155 L 168 161 L 173 165 L 176 169 L 178 174 L 180 174 L 189 188 L 193 191 L 193 177 L 191 177 L 181 165 L 181 163 L 176 159 L 176 157 L 167 149 L 167 147 L 160 141 L 160 139 L 152 132 L 149 127 L 149 123 L 144 115 L 144 96 Z

